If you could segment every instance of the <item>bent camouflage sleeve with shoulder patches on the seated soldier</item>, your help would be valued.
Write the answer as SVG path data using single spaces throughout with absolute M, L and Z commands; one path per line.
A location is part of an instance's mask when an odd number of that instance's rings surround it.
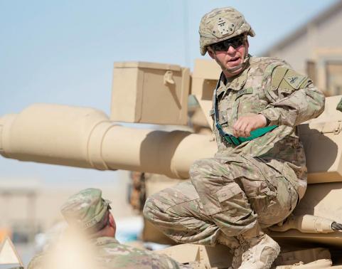
M 267 117 L 269 125 L 293 127 L 323 112 L 324 94 L 306 75 L 288 67 L 278 67 L 266 81 L 270 103 L 260 114 Z

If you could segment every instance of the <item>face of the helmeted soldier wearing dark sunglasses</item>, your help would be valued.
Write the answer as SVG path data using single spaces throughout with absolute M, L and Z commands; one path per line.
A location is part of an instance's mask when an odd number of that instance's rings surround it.
M 229 46 L 226 51 L 213 51 L 212 48 L 208 48 L 208 53 L 220 65 L 225 76 L 230 78 L 242 72 L 243 60 L 248 53 L 248 46 L 248 41 L 245 41 L 236 48 Z

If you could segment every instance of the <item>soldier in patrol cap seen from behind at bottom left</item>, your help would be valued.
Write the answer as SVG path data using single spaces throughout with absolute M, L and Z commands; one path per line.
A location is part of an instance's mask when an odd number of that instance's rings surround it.
M 46 250 L 41 254 L 36 255 L 28 264 L 28 269 L 46 269 L 46 268 L 190 268 L 188 265 L 182 265 L 166 255 L 159 255 L 150 250 L 142 250 L 132 246 L 120 244 L 115 239 L 116 225 L 112 213 L 109 212 L 109 201 L 102 199 L 102 191 L 100 189 L 85 189 L 78 194 L 70 196 L 61 209 L 65 220 L 70 228 L 81 231 L 87 239 L 85 243 L 90 243 L 94 246 L 94 251 L 89 257 L 71 258 L 73 264 L 65 265 L 65 255 L 61 255 L 59 262 L 63 266 L 55 265 L 51 261 L 53 255 L 52 250 Z M 69 241 L 68 241 L 69 242 Z M 82 243 L 84 243 L 82 241 Z M 65 246 L 61 243 L 62 251 Z M 75 250 L 75 254 L 79 255 L 82 251 Z M 72 253 L 65 253 L 70 257 Z M 49 257 L 50 255 L 50 257 Z M 50 259 L 49 259 L 50 258 Z M 85 259 L 89 259 L 87 264 L 84 264 Z M 58 260 L 58 259 L 57 259 Z M 82 260 L 82 265 L 77 264 L 77 260 Z M 95 264 L 90 265 L 91 261 Z M 68 262 L 68 260 L 67 260 Z M 53 263 L 54 266 L 51 266 Z

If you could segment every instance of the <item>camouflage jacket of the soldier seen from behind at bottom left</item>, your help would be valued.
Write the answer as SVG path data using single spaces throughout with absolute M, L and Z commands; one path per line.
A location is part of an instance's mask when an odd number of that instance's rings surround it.
M 89 241 L 87 241 L 89 242 Z M 93 257 L 79 257 L 82 251 L 78 253 L 65 253 L 69 260 L 73 260 L 72 265 L 68 264 L 68 268 L 82 268 L 77 264 L 77 260 L 89 260 L 95 264 L 92 269 L 190 269 L 188 265 L 182 265 L 166 255 L 154 253 L 153 251 L 143 250 L 127 246 L 119 243 L 112 237 L 100 237 L 90 240 L 90 245 L 95 246 Z M 63 246 L 62 246 L 63 249 Z M 67 250 L 64 250 L 67 251 Z M 50 267 L 49 255 L 52 254 L 48 249 L 36 255 L 28 264 L 28 269 L 46 269 Z M 74 256 L 73 256 L 74 255 Z M 63 257 L 63 255 L 61 255 Z M 70 259 L 70 256 L 73 257 Z M 63 265 L 54 265 L 53 268 L 65 269 L 65 258 Z M 68 263 L 68 260 L 67 260 Z M 48 266 L 47 266 L 48 265 Z

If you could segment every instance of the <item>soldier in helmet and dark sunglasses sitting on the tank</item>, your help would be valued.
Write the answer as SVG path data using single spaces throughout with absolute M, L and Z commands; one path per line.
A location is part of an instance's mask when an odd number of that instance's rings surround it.
M 151 196 L 144 216 L 174 241 L 229 246 L 233 268 L 270 268 L 280 248 L 262 228 L 304 196 L 296 125 L 323 112 L 324 95 L 283 60 L 250 56 L 255 32 L 231 7 L 205 14 L 199 33 L 201 54 L 222 69 L 210 111 L 218 152 L 193 163 L 191 183 Z

